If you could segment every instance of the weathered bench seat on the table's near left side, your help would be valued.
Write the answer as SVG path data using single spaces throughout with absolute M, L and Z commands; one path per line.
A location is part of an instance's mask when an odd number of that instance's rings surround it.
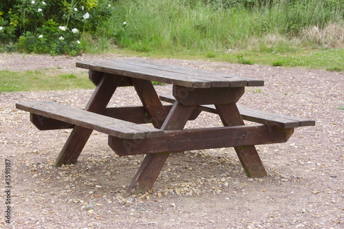
M 39 116 L 52 118 L 76 126 L 94 129 L 108 135 L 125 139 L 153 138 L 164 135 L 164 131 L 116 118 L 109 118 L 75 107 L 68 107 L 56 102 L 25 101 L 16 107 Z M 44 120 L 43 120 L 44 121 Z

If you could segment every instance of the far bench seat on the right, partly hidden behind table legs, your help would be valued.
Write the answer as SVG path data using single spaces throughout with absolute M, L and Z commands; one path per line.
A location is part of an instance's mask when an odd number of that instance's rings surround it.
M 172 95 L 163 95 L 160 96 L 160 100 L 164 102 L 175 102 L 175 98 Z M 197 106 L 197 109 L 200 109 L 202 111 L 208 111 L 211 113 L 217 113 L 217 110 L 215 108 L 215 105 L 199 105 Z M 266 111 L 258 111 L 255 109 L 248 109 L 239 107 L 239 112 L 241 114 L 241 117 L 244 120 L 248 120 L 250 122 L 258 122 L 261 124 L 267 124 L 269 126 L 273 127 L 280 127 L 283 129 L 289 129 L 289 128 L 297 128 L 297 127 L 305 127 L 305 126 L 314 126 L 315 121 L 314 120 L 308 120 L 305 118 L 297 118 L 297 117 L 291 117 L 291 116 L 284 116 L 277 113 L 270 113 Z

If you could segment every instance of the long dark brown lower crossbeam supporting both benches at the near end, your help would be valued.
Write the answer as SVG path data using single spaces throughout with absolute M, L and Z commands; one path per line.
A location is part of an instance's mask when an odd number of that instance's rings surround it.
M 109 146 L 118 155 L 167 153 L 199 149 L 272 144 L 286 142 L 294 129 L 268 127 L 263 124 L 252 126 L 213 127 L 165 131 L 159 138 L 123 140 L 109 136 Z

